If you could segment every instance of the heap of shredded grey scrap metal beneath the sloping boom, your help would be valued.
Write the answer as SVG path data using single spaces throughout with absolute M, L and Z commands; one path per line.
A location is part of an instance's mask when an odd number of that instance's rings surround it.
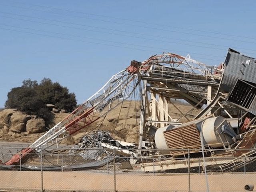
M 121 142 L 122 143 L 122 142 Z M 120 142 L 114 140 L 108 131 L 93 131 L 81 138 L 80 142 L 76 144 L 70 154 L 79 154 L 85 159 L 88 160 L 99 160 L 104 156 L 113 156 L 112 150 L 116 149 L 117 151 L 126 151 L 123 154 L 126 156 L 136 156 L 135 145 L 126 143 L 127 145 L 122 145 Z M 85 150 L 82 150 L 85 149 Z M 127 150 L 122 150 L 127 149 Z

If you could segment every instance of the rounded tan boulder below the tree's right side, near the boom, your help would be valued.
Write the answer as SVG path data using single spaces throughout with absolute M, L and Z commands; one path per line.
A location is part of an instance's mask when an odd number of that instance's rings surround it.
M 28 134 L 41 133 L 45 131 L 45 122 L 43 119 L 30 119 L 26 124 L 26 131 Z

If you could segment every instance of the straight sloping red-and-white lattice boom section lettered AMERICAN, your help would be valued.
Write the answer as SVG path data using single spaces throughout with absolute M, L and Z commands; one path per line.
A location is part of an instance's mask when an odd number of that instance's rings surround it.
M 6 165 L 25 162 L 28 154 L 40 152 L 50 146 L 58 144 L 66 137 L 85 128 L 98 120 L 101 116 L 118 106 L 122 101 L 129 98 L 138 86 L 137 74 L 122 70 L 108 80 L 108 82 L 91 96 L 86 102 L 76 108 L 70 115 L 51 128 L 46 134 L 38 138 L 28 148 L 16 154 Z M 115 101 L 115 102 L 114 102 Z M 34 148 L 36 148 L 34 150 Z

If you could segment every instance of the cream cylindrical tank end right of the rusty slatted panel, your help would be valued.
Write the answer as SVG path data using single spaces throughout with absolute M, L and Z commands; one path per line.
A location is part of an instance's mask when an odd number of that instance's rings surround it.
M 225 134 L 222 133 L 222 125 L 229 126 L 226 119 L 222 116 L 208 118 L 203 122 L 202 133 L 206 144 L 216 148 L 223 147 L 223 144 L 227 146 L 233 142 L 232 138 L 225 136 Z

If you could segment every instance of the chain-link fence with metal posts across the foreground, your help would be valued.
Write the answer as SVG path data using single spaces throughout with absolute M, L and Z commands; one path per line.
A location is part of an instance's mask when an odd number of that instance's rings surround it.
M 0 147 L 0 191 L 240 192 L 256 184 L 255 149 L 238 157 L 241 150 L 205 151 L 202 156 L 175 149 L 174 157 L 137 150 L 135 158 L 127 149 L 36 148 L 15 164 L 4 164 L 21 150 Z

